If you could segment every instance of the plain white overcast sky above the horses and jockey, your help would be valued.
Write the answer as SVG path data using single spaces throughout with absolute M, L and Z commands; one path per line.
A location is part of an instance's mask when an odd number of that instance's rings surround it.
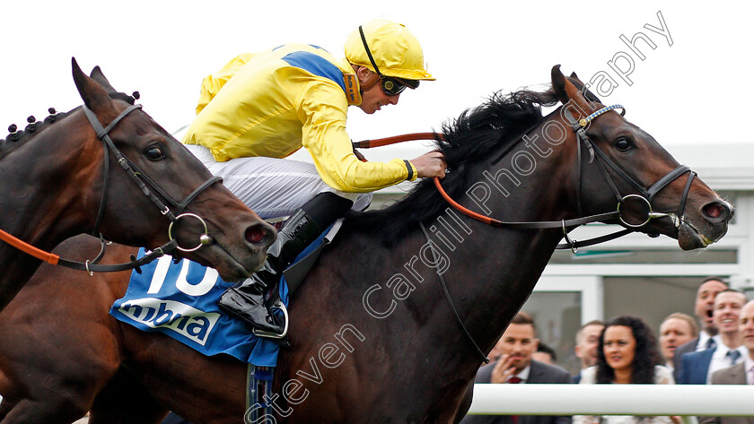
M 86 72 L 100 65 L 119 91 L 140 91 L 145 111 L 175 132 L 194 117 L 202 78 L 233 56 L 286 42 L 343 56 L 352 30 L 383 18 L 414 32 L 437 81 L 373 116 L 350 108 L 354 140 L 439 129 L 495 91 L 548 83 L 561 64 L 584 82 L 617 83 L 603 102 L 626 106 L 662 144 L 754 143 L 751 2 L 516 3 L 5 1 L 0 130 L 81 103 L 71 56 Z M 654 48 L 620 39 L 639 32 Z

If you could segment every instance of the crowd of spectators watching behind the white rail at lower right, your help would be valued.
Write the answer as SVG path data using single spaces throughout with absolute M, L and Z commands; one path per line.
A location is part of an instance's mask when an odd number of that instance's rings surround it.
M 639 316 L 583 324 L 570 376 L 539 342 L 534 319 L 519 312 L 478 370 L 477 384 L 754 385 L 754 301 L 720 278 L 697 289 L 695 317 L 669 314 L 657 337 Z M 754 424 L 754 417 L 698 417 L 700 424 Z M 521 421 L 521 423 L 519 423 Z M 679 424 L 680 417 L 468 415 L 462 424 Z

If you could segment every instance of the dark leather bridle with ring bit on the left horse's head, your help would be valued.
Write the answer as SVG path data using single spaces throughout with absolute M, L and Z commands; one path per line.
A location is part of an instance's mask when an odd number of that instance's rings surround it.
M 97 212 L 97 221 L 94 223 L 94 229 L 92 230 L 92 235 L 97 236 L 99 234 L 100 224 L 102 221 L 102 215 L 105 211 L 105 203 L 107 203 L 107 196 L 108 196 L 108 186 L 110 182 L 110 153 L 109 151 L 112 151 L 115 155 L 115 159 L 118 160 L 118 164 L 120 164 L 120 167 L 126 171 L 126 174 L 128 177 L 131 177 L 131 179 L 136 183 L 136 185 L 141 189 L 142 193 L 146 195 L 152 203 L 154 203 L 155 206 L 160 210 L 162 215 L 167 217 L 171 221 L 170 227 L 168 227 L 168 238 L 169 242 L 167 245 L 163 247 L 158 247 L 163 253 L 167 252 L 168 249 L 177 248 L 182 252 L 193 252 L 197 250 L 199 247 L 202 247 L 204 245 L 208 245 L 212 243 L 212 238 L 207 234 L 207 228 L 206 228 L 206 222 L 204 219 L 202 219 L 200 216 L 194 213 L 183 213 L 183 210 L 186 209 L 186 206 L 193 201 L 197 195 L 199 195 L 201 192 L 206 190 L 207 187 L 212 186 L 218 181 L 222 181 L 222 177 L 211 177 L 208 180 L 206 180 L 201 186 L 198 186 L 197 189 L 195 189 L 191 194 L 186 196 L 185 199 L 181 202 L 176 202 L 173 200 L 171 195 L 168 195 L 165 193 L 162 188 L 155 183 L 152 178 L 148 177 L 141 169 L 139 169 L 136 164 L 129 160 L 121 151 L 118 150 L 118 147 L 115 146 L 115 143 L 112 142 L 112 139 L 110 139 L 110 131 L 118 125 L 118 122 L 120 122 L 124 117 L 127 117 L 127 115 L 131 112 L 133 112 L 136 109 L 142 108 L 142 105 L 132 105 L 129 106 L 126 110 L 120 113 L 118 117 L 112 120 L 110 122 L 110 125 L 103 127 L 100 123 L 100 120 L 97 119 L 97 116 L 92 112 L 90 108 L 87 108 L 85 105 L 82 107 L 83 112 L 86 115 L 87 119 L 89 119 L 89 123 L 92 124 L 92 127 L 94 128 L 95 133 L 97 133 L 97 138 L 99 138 L 102 141 L 102 147 L 104 149 L 104 181 L 102 184 L 102 198 L 100 201 L 100 210 Z M 151 188 L 151 190 L 150 190 Z M 165 200 L 166 203 L 169 203 L 170 206 L 167 206 L 165 203 L 163 203 L 159 197 L 153 194 L 153 191 L 156 192 L 162 199 Z M 171 210 L 171 207 L 173 208 Z M 177 216 L 176 216 L 177 215 Z M 172 228 L 173 225 L 178 223 L 181 219 L 188 219 L 193 218 L 200 222 L 202 225 L 204 232 L 199 237 L 199 243 L 196 247 L 180 247 L 178 244 L 178 241 L 175 240 L 175 238 L 172 237 Z

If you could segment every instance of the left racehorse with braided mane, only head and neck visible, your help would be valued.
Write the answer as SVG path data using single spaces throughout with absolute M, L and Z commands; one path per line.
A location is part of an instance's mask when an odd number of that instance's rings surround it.
M 112 89 L 99 66 L 88 77 L 75 59 L 72 65 L 84 106 L 58 114 L 50 109 L 44 121 L 30 117 L 24 131 L 12 125 L 13 133 L 0 141 L 0 229 L 46 251 L 83 232 L 160 247 L 169 241 L 170 226 L 180 247 L 176 255 L 212 264 L 230 281 L 255 270 L 274 229 L 215 184 L 134 98 Z M 200 235 L 210 244 L 189 252 Z M 38 258 L 0 242 L 0 310 L 40 259 L 48 260 L 44 253 Z

